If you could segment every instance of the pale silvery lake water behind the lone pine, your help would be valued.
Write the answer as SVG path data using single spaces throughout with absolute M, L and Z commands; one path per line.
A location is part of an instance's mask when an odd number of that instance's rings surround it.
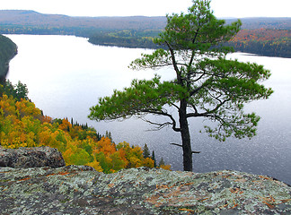
M 182 169 L 180 133 L 171 128 L 149 132 L 153 128 L 138 119 L 123 122 L 93 122 L 87 116 L 99 97 L 110 96 L 114 89 L 128 87 L 134 78 L 150 79 L 154 73 L 171 79 L 171 70 L 131 71 L 128 64 L 149 49 L 93 46 L 87 39 L 72 36 L 6 35 L 18 46 L 18 55 L 10 63 L 8 79 L 26 83 L 29 97 L 45 115 L 74 118 L 88 123 L 99 133 L 110 131 L 114 142 L 148 144 L 158 159 Z M 268 100 L 248 104 L 246 110 L 261 116 L 258 135 L 249 139 L 230 138 L 217 142 L 207 134 L 198 133 L 201 120 L 191 120 L 194 171 L 207 172 L 234 169 L 253 174 L 273 176 L 291 184 L 291 59 L 251 56 L 234 53 L 231 58 L 263 64 L 272 72 L 266 86 L 275 93 Z M 152 116 L 154 117 L 154 116 Z

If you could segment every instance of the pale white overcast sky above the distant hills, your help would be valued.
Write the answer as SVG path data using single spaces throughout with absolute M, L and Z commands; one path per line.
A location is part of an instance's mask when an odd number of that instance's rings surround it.
M 1 0 L 0 10 L 71 16 L 163 16 L 187 12 L 191 0 Z M 217 17 L 291 17 L 291 0 L 212 0 Z

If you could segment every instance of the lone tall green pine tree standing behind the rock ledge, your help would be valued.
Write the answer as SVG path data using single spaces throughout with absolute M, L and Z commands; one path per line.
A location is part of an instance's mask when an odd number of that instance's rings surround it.
M 145 70 L 170 68 L 174 78 L 163 81 L 155 75 L 152 80 L 133 80 L 124 90 L 114 90 L 111 97 L 100 98 L 91 107 L 90 118 L 101 120 L 127 119 L 137 116 L 157 130 L 171 126 L 181 134 L 183 168 L 193 170 L 193 143 L 190 138 L 193 118 L 208 119 L 204 125 L 210 137 L 225 141 L 228 137 L 251 138 L 256 135 L 260 116 L 244 112 L 244 105 L 258 99 L 268 99 L 273 90 L 261 84 L 268 80 L 269 70 L 255 63 L 228 59 L 232 52 L 225 42 L 241 29 L 242 22 L 225 24 L 216 19 L 210 0 L 193 0 L 188 13 L 167 15 L 167 24 L 158 38 L 152 54 L 142 54 L 129 68 Z M 172 111 L 172 107 L 175 111 Z M 163 116 L 164 121 L 145 119 L 148 114 Z M 176 117 L 177 116 L 177 117 Z M 191 142 L 194 141 L 194 142 Z

